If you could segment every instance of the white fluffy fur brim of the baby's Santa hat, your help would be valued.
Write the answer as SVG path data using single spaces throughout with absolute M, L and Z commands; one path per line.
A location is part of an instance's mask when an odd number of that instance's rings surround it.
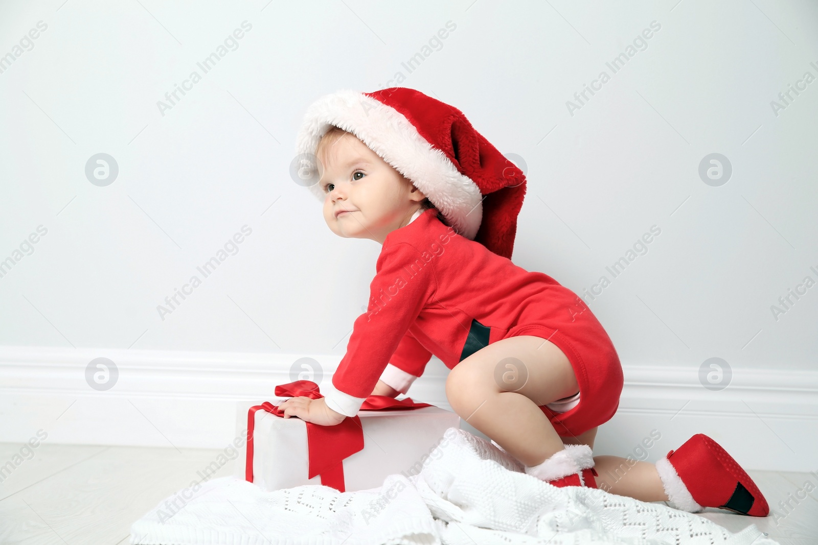
M 479 187 L 469 176 L 458 172 L 442 151 L 420 136 L 398 110 L 357 91 L 321 96 L 304 114 L 296 138 L 296 153 L 314 155 L 330 125 L 352 132 L 416 185 L 458 234 L 474 240 L 483 221 L 483 195 Z M 309 190 L 321 201 L 326 197 L 317 183 L 310 185 Z

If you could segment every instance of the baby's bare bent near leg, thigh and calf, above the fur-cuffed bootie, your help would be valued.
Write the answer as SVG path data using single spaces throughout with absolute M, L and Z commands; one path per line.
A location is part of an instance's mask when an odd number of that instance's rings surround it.
M 564 449 L 537 405 L 578 391 L 568 358 L 553 343 L 531 335 L 483 347 L 457 364 L 446 381 L 452 409 L 527 466 Z

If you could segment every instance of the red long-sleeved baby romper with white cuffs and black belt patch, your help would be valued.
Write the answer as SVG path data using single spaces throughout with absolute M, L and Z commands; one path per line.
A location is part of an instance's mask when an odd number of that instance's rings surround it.
M 354 416 L 391 363 L 419 377 L 432 355 L 449 369 L 506 337 L 535 335 L 571 362 L 580 391 L 573 409 L 541 406 L 560 436 L 607 422 L 622 391 L 622 366 L 605 329 L 568 288 L 456 234 L 434 208 L 387 235 L 370 302 L 347 351 L 322 387 L 330 409 Z

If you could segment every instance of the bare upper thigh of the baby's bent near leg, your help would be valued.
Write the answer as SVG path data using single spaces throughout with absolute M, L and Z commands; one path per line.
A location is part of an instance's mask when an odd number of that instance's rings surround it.
M 544 405 L 579 391 L 573 368 L 554 343 L 519 335 L 483 346 L 456 364 L 446 382 L 447 395 L 514 391 Z

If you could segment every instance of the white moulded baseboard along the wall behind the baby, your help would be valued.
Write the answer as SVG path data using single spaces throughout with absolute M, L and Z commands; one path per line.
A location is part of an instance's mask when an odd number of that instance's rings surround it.
M 340 356 L 310 356 L 329 383 Z M 108 391 L 85 381 L 97 357 L 119 369 Z M 236 402 L 275 400 L 275 386 L 290 382 L 299 357 L 0 346 L 0 442 L 23 443 L 42 430 L 48 444 L 222 449 L 236 436 Z M 447 371 L 433 358 L 409 395 L 451 410 Z M 816 469 L 818 372 L 734 369 L 722 391 L 701 386 L 698 368 L 627 365 L 624 372 L 618 413 L 600 427 L 595 453 L 655 461 L 701 432 L 748 469 Z M 645 449 L 651 433 L 661 439 Z

